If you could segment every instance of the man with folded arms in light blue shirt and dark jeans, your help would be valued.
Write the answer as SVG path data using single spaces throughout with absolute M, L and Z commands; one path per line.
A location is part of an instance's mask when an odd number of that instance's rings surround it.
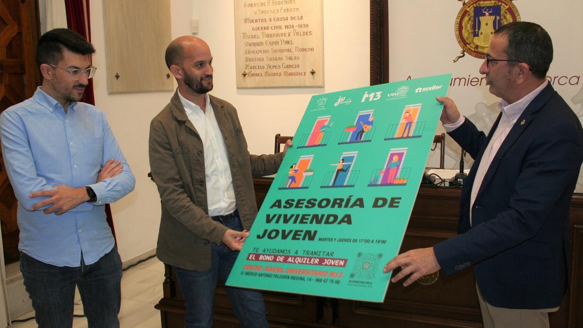
M 89 327 L 119 327 L 121 259 L 104 204 L 135 178 L 105 114 L 81 103 L 95 52 L 78 33 L 38 40 L 43 83 L 0 116 L 2 155 L 18 200 L 20 270 L 38 326 L 71 327 L 75 286 Z

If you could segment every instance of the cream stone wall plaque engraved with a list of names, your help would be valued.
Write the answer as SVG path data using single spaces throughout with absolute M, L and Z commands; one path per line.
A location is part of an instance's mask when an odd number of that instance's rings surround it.
M 237 88 L 324 86 L 322 0 L 235 0 Z

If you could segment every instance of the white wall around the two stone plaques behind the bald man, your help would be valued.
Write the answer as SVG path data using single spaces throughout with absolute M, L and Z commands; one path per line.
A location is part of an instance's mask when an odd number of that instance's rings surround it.
M 324 0 L 325 88 L 256 90 L 236 88 L 233 0 L 170 3 L 173 39 L 191 34 L 191 16 L 199 19 L 196 35 L 207 41 L 214 57 L 215 88 L 211 93 L 237 107 L 251 153 L 273 152 L 273 137 L 278 132 L 293 135 L 312 95 L 369 85 L 368 1 Z M 150 171 L 147 138 L 150 120 L 173 93 L 107 94 L 103 0 L 92 0 L 90 6 L 92 43 L 97 49 L 93 65 L 99 68 L 94 78 L 96 104 L 107 114 L 136 176 L 134 192 L 112 205 L 118 248 L 125 261 L 156 247 L 160 198 L 146 176 Z

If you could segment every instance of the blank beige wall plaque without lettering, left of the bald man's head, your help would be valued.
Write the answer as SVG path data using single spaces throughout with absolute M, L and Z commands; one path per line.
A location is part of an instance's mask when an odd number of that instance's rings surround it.
M 173 90 L 170 0 L 104 0 L 103 15 L 108 93 Z

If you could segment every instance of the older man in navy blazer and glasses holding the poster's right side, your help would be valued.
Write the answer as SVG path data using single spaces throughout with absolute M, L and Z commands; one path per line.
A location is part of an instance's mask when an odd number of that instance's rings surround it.
M 459 235 L 399 254 L 409 285 L 423 275 L 473 265 L 486 327 L 548 327 L 567 291 L 569 206 L 583 161 L 583 130 L 546 80 L 553 59 L 549 34 L 535 23 L 496 30 L 480 74 L 501 97 L 488 135 L 444 104 L 441 122 L 475 163 L 463 186 Z

